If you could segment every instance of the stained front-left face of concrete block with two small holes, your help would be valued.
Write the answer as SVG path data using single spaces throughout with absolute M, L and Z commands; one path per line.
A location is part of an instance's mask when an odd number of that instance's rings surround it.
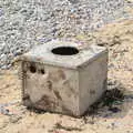
M 24 105 L 79 115 L 78 71 L 31 62 L 23 62 L 22 68 Z

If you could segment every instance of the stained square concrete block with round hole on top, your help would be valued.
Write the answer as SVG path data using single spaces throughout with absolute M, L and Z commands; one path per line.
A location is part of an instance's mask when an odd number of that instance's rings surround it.
M 73 116 L 106 90 L 108 50 L 53 40 L 21 58 L 22 100 L 27 106 Z

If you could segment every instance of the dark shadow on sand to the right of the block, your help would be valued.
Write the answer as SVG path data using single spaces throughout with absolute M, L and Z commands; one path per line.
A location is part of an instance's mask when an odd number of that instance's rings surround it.
M 133 106 L 133 91 L 127 91 L 122 83 L 109 81 L 108 90 L 103 96 L 85 112 L 83 120 L 88 117 L 124 117 Z

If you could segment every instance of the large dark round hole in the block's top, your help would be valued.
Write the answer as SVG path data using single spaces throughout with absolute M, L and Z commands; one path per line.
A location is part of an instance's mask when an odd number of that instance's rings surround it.
M 74 47 L 58 47 L 52 49 L 52 53 L 59 55 L 73 55 L 73 54 L 78 54 L 79 50 Z

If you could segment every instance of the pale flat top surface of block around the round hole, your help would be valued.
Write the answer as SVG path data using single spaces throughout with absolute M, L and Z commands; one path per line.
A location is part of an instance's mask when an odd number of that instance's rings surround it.
M 73 55 L 59 55 L 52 53 L 54 48 L 60 47 L 74 47 L 79 50 L 79 53 Z M 81 47 L 81 43 L 70 41 L 52 40 L 42 45 L 34 47 L 28 53 L 20 57 L 20 60 L 33 61 L 50 65 L 78 69 L 88 64 L 92 60 L 99 58 L 99 55 L 108 52 L 106 48 L 99 45 L 89 45 L 88 48 Z

